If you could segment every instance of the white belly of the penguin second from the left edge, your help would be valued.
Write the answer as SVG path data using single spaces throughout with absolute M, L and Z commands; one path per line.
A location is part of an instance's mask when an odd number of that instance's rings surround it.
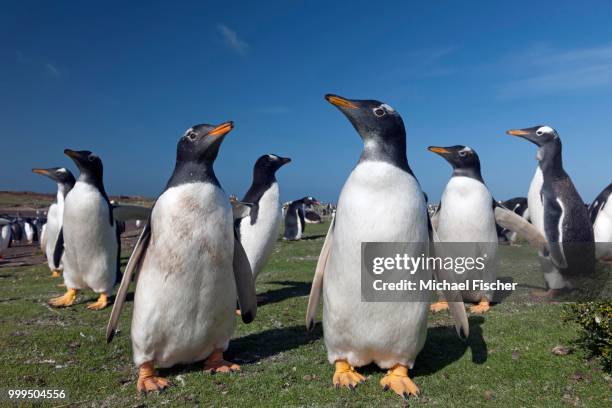
M 77 181 L 64 202 L 64 280 L 75 289 L 110 292 L 117 274 L 115 223 L 94 186 Z

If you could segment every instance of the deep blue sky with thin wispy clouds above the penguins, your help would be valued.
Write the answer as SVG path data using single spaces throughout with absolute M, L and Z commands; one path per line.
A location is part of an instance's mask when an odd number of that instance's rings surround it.
M 30 169 L 73 168 L 68 147 L 102 157 L 110 194 L 156 196 L 185 129 L 234 120 L 228 193 L 277 153 L 284 200 L 335 201 L 362 145 L 328 92 L 398 110 L 436 200 L 450 167 L 429 145 L 471 146 L 494 196 L 526 195 L 535 146 L 504 131 L 536 124 L 586 201 L 612 181 L 612 4 L 260 3 L 2 2 L 0 190 L 53 191 Z

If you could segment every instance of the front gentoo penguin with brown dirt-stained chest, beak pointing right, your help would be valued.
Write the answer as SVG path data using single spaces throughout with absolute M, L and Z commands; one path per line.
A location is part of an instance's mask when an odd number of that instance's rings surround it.
M 176 166 L 134 247 L 107 327 L 115 333 L 127 289 L 136 276 L 132 350 L 137 389 L 168 386 L 155 366 L 203 360 L 208 372 L 239 370 L 223 352 L 236 324 L 255 317 L 249 261 L 233 228 L 232 208 L 213 163 L 232 122 L 189 128 L 177 146 Z

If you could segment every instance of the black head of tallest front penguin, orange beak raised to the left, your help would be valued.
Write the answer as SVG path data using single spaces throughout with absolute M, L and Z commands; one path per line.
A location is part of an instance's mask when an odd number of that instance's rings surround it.
M 412 174 L 406 158 L 406 129 L 402 117 L 386 103 L 346 99 L 327 94 L 325 99 L 348 118 L 364 141 L 360 161 L 384 161 Z

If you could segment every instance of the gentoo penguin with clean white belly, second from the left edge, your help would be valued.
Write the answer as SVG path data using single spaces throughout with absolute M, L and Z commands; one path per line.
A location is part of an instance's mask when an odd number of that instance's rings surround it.
M 103 183 L 102 160 L 90 151 L 64 150 L 79 168 L 79 178 L 65 198 L 62 229 L 54 258 L 64 254 L 63 296 L 51 299 L 53 306 L 71 306 L 77 290 L 91 288 L 98 300 L 87 306 L 100 310 L 108 305 L 108 295 L 119 274 L 119 236 L 111 203 Z

